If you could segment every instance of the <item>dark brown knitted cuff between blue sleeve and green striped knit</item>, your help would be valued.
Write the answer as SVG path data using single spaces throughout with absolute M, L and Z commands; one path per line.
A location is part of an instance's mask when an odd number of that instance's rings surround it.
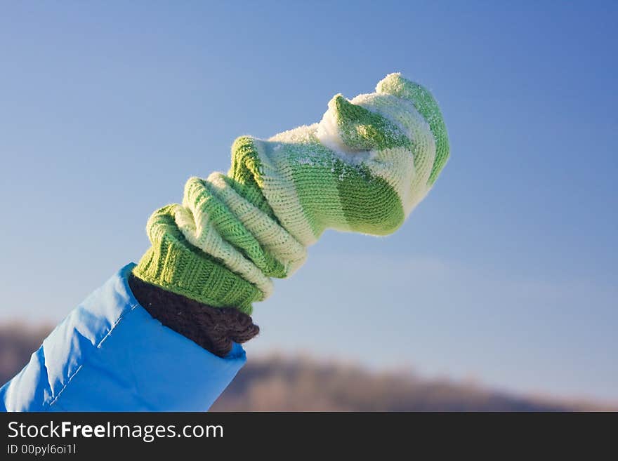
M 129 287 L 140 305 L 164 326 L 220 357 L 233 342 L 246 342 L 259 332 L 250 316 L 232 307 L 211 307 L 171 293 L 131 274 Z

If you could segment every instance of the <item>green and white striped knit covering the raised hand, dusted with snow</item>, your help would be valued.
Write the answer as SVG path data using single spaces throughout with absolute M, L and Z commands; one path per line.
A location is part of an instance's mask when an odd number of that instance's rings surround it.
M 331 99 L 320 123 L 232 145 L 227 175 L 190 178 L 155 211 L 133 273 L 173 293 L 251 314 L 272 277 L 300 267 L 325 229 L 386 235 L 426 196 L 449 157 L 440 109 L 390 74 L 376 92 Z

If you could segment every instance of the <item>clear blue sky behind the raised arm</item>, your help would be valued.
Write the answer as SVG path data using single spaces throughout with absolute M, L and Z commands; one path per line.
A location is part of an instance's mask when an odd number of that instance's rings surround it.
M 249 358 L 618 401 L 616 3 L 230 3 L 3 4 L 0 321 L 59 321 L 236 136 L 398 71 L 440 102 L 447 167 L 397 234 L 324 234 Z

